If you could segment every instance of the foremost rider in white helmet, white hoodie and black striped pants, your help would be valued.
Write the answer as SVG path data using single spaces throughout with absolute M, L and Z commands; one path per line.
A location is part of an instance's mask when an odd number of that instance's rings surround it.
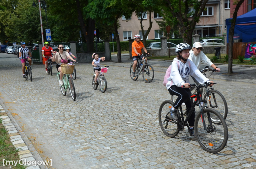
M 174 120 L 178 119 L 177 111 L 182 103 L 186 104 L 186 109 L 189 110 L 192 106 L 192 100 L 187 100 L 191 96 L 189 90 L 189 75 L 196 78 L 196 80 L 203 84 L 204 82 L 210 82 L 200 71 L 197 69 L 196 65 L 188 60 L 189 50 L 191 47 L 187 43 L 180 43 L 176 46 L 177 58 L 173 59 L 170 77 L 168 78 L 168 83 L 166 87 L 171 95 L 178 96 L 171 108 L 171 118 Z M 190 63 L 189 63 L 190 62 Z M 213 81 L 211 81 L 213 83 Z M 182 86 L 185 88 L 182 88 Z M 211 84 L 212 86 L 213 84 Z M 194 135 L 194 123 L 195 123 L 195 111 L 188 119 L 188 125 L 190 127 L 191 134 Z

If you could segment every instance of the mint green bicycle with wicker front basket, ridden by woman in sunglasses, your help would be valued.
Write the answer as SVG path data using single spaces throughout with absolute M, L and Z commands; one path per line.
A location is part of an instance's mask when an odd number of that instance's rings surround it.
M 58 64 L 58 65 L 61 65 L 61 64 Z M 60 80 L 60 72 L 57 73 L 57 76 L 58 76 L 58 80 Z M 60 86 L 60 91 L 61 91 L 62 95 L 66 96 L 67 89 L 69 89 L 71 98 L 72 98 L 72 100 L 75 101 L 76 100 L 76 90 L 75 90 L 75 86 L 73 83 L 73 79 L 70 76 L 70 74 L 64 74 L 62 77 L 62 81 L 63 81 L 63 85 Z

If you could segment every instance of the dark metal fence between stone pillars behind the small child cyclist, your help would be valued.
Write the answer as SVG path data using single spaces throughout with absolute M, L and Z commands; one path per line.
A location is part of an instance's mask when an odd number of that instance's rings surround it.
M 105 52 L 104 42 L 76 43 L 77 53 Z

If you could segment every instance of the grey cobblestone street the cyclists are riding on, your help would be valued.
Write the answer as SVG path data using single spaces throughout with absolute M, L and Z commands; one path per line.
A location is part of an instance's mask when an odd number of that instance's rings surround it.
M 145 83 L 142 76 L 131 80 L 129 63 L 101 62 L 111 65 L 101 93 L 92 88 L 91 63 L 78 63 L 73 101 L 69 92 L 61 94 L 56 68 L 50 76 L 32 65 L 31 82 L 22 78 L 16 56 L 0 58 L 1 104 L 35 159 L 52 159 L 52 167 L 41 168 L 256 168 L 255 84 L 216 78 L 228 103 L 229 139 L 211 154 L 186 129 L 175 138 L 163 134 L 158 109 L 170 95 L 160 66 L 152 64 L 154 80 Z

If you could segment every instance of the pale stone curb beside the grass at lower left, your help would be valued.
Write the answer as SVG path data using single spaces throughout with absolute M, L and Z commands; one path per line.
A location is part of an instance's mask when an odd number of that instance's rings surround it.
M 35 158 L 33 157 L 33 154 L 28 150 L 28 147 L 22 137 L 20 136 L 18 130 L 14 126 L 11 119 L 8 117 L 7 113 L 5 112 L 4 108 L 0 104 L 0 118 L 2 119 L 2 124 L 5 127 L 5 130 L 8 131 L 8 135 L 10 138 L 10 141 L 12 142 L 15 149 L 18 150 L 19 159 L 26 160 L 26 161 L 34 161 Z M 26 165 L 26 169 L 40 169 L 38 165 L 33 166 Z

